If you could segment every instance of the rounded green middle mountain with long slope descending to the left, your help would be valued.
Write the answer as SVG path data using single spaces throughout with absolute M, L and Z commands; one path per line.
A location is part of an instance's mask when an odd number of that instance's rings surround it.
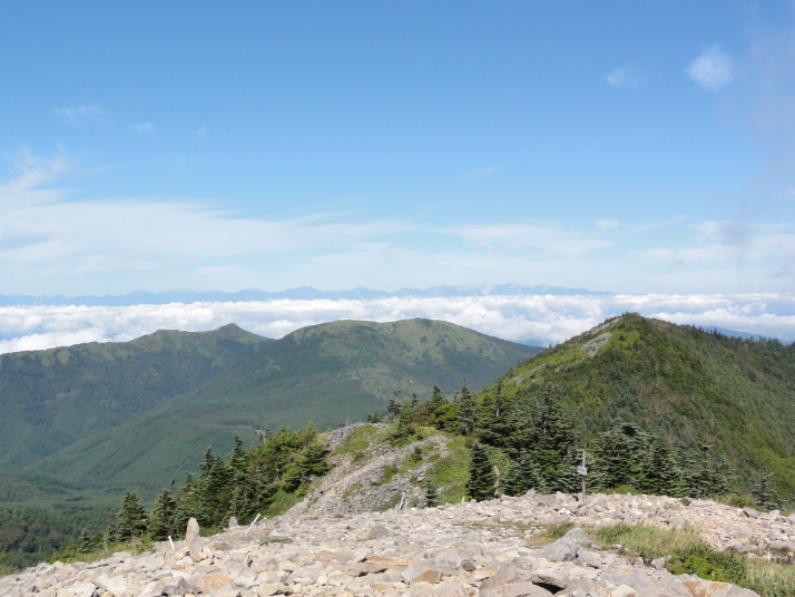
M 30 469 L 153 495 L 180 479 L 208 446 L 229 450 L 235 433 L 252 441 L 255 430 L 310 420 L 320 429 L 336 427 L 383 412 L 395 391 L 425 399 L 435 384 L 452 394 L 464 378 L 480 389 L 539 350 L 429 320 L 315 325 L 262 345 L 200 388 Z

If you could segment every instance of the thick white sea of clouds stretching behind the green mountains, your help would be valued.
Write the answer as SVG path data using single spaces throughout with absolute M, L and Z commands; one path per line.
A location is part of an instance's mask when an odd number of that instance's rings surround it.
M 793 294 L 387 297 L 2 306 L 0 353 L 121 342 L 164 329 L 207 331 L 227 323 L 277 339 L 334 320 L 389 322 L 411 317 L 443 320 L 506 340 L 548 345 L 628 311 L 674 323 L 795 339 Z

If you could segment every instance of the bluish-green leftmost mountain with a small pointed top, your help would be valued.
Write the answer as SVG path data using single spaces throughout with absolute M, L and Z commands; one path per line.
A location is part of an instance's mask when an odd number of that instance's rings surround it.
M 135 419 L 267 342 L 227 325 L 0 355 L 0 466 L 31 464 Z

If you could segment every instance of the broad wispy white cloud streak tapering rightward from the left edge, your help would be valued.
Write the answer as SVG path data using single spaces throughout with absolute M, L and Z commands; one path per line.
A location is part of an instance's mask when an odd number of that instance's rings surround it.
M 175 263 L 286 254 L 355 243 L 416 228 L 405 222 L 340 221 L 312 214 L 286 221 L 243 219 L 210 205 L 150 199 L 65 200 L 42 189 L 66 167 L 29 158 L 0 186 L 0 270 L 39 275 L 153 270 Z

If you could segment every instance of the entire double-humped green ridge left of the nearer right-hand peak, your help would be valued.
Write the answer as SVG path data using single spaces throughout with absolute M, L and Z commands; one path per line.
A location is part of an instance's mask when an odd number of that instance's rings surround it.
M 212 351 L 199 350 L 204 344 Z M 197 361 L 183 363 L 179 346 L 193 346 L 185 354 Z M 464 379 L 477 390 L 539 350 L 418 319 L 337 321 L 279 340 L 236 325 L 160 331 L 128 343 L 11 353 L 0 359 L 0 389 L 21 393 L 16 410 L 9 409 L 12 400 L 0 403 L 0 425 L 7 428 L 0 466 L 66 476 L 97 490 L 138 488 L 148 496 L 193 469 L 208 446 L 229 449 L 235 434 L 255 441 L 258 430 L 363 420 L 383 412 L 395 391 L 424 399 L 440 385 L 452 394 Z M 81 370 L 82 379 L 75 373 L 75 355 L 87 352 L 117 358 L 100 363 L 105 369 Z M 28 361 L 21 379 L 3 366 Z M 42 382 L 42 371 L 57 379 Z M 75 383 L 86 391 L 77 395 Z M 69 400 L 72 394 L 77 402 Z M 69 410 L 75 403 L 81 404 L 79 415 Z

